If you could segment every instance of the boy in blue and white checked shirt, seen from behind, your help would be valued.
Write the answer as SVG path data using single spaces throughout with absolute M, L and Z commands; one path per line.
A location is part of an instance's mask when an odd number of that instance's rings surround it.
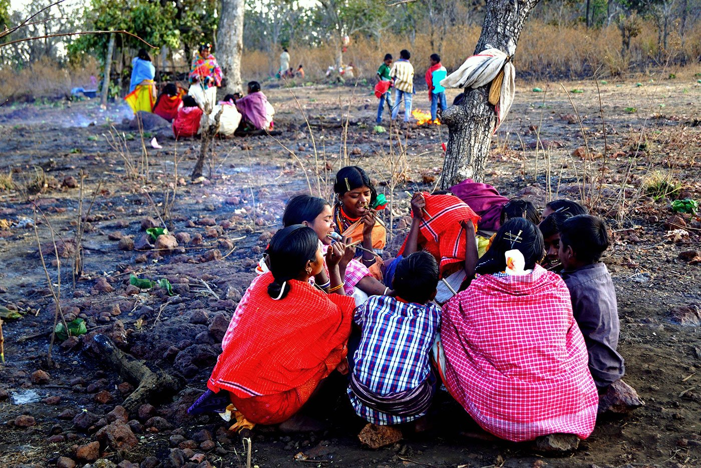
M 437 284 L 433 255 L 414 252 L 397 265 L 396 297 L 372 296 L 355 310 L 362 335 L 348 352 L 348 397 L 367 421 L 394 425 L 428 412 L 436 390 L 429 353 L 440 326 L 440 308 L 430 302 Z

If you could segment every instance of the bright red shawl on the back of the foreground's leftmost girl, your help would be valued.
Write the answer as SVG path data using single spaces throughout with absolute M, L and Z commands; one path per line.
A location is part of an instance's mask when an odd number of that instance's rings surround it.
M 355 301 L 290 280 L 287 296 L 268 296 L 272 273 L 252 282 L 222 340 L 222 354 L 207 382 L 245 400 L 247 418 L 273 424 L 290 417 L 346 356 Z M 259 398 L 263 397 L 263 398 Z M 252 399 L 256 398 L 256 399 Z M 283 418 L 284 419 L 280 419 Z

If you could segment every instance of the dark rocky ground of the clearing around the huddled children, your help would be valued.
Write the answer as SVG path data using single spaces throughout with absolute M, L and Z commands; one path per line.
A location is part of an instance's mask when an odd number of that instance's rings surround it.
M 606 217 L 625 380 L 644 407 L 600 418 L 576 452 L 552 457 L 489 438 L 443 393 L 426 432 L 371 450 L 332 382 L 319 402 L 324 425 L 255 428 L 251 466 L 701 466 L 701 223 L 671 209 L 675 198 L 701 199 L 701 88 L 692 73 L 677 76 L 599 83 L 600 99 L 596 83 L 564 83 L 572 103 L 559 84 L 522 85 L 486 176 L 540 207 L 583 197 Z M 369 89 L 266 92 L 278 111 L 275 135 L 218 140 L 198 184 L 189 172 L 199 142 L 175 142 L 163 128 L 142 139 L 122 123 L 121 105 L 0 108 L 1 466 L 247 465 L 237 434 L 186 408 L 205 390 L 286 200 L 310 188 L 327 196 L 335 170 L 361 165 L 393 202 L 386 221 L 395 253 L 407 193 L 440 182 L 447 142 L 436 125 L 374 131 Z M 414 102 L 428 110 L 424 99 Z M 146 232 L 163 227 L 171 235 Z M 140 289 L 131 275 L 157 284 Z M 86 333 L 51 347 L 57 303 Z M 147 374 L 169 385 L 140 399 L 135 373 L 144 368 L 120 375 L 104 337 L 126 353 L 123 362 L 143 359 Z

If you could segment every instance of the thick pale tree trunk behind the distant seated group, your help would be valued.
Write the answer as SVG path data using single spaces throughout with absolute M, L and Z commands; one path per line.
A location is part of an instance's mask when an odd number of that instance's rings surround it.
M 217 57 L 222 67 L 226 94 L 240 92 L 241 54 L 243 53 L 243 7 L 244 0 L 222 0 L 222 16 L 217 32 Z

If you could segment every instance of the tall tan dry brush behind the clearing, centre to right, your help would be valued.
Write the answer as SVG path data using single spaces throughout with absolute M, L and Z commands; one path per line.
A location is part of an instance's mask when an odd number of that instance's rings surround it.
M 479 39 L 479 26 L 461 26 L 449 29 L 439 48 L 430 46 L 428 34 L 416 34 L 413 44 L 405 36 L 384 34 L 381 41 L 358 39 L 351 42 L 343 54 L 346 64 L 353 64 L 355 76 L 371 80 L 385 53 L 395 59 L 399 51 L 411 51 L 411 62 L 416 68 L 416 82 L 421 83 L 423 73 L 428 68 L 428 56 L 440 53 L 442 62 L 449 70 L 460 67 L 473 51 Z M 450 38 L 460 38 L 459 41 Z M 526 23 L 516 52 L 515 64 L 521 78 L 585 78 L 592 76 L 593 70 L 599 76 L 620 76 L 635 71 L 648 71 L 648 65 L 662 66 L 668 55 L 674 57 L 701 56 L 701 23 L 694 25 L 679 41 L 673 35 L 669 38 L 669 48 L 658 49 L 658 33 L 652 22 L 644 22 L 641 34 L 631 41 L 627 55 L 621 55 L 620 32 L 616 25 L 601 29 L 587 30 L 583 25 L 558 26 L 538 20 Z M 334 63 L 335 51 L 332 46 L 290 47 L 290 67 L 304 64 L 308 81 L 325 76 L 327 67 Z M 658 61 L 658 57 L 662 60 Z M 691 59 L 688 62 L 694 62 Z M 264 53 L 259 50 L 246 51 L 242 62 L 245 79 L 264 79 L 278 70 L 278 53 Z

